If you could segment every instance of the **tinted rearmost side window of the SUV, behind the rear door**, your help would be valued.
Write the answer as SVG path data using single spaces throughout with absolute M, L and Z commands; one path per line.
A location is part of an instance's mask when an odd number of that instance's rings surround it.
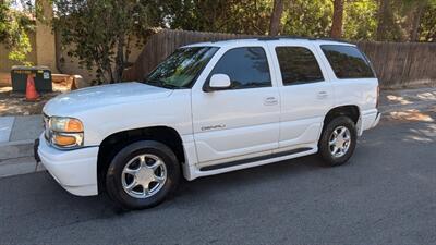
M 336 77 L 338 78 L 372 78 L 375 74 L 365 56 L 353 46 L 323 45 Z

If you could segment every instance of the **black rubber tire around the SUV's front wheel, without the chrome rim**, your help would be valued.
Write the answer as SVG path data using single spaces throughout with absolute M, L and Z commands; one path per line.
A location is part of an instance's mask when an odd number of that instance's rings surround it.
M 135 198 L 124 191 L 122 172 L 131 159 L 148 154 L 159 157 L 166 167 L 166 181 L 162 187 L 149 197 Z M 177 187 L 181 170 L 174 152 L 166 145 L 154 140 L 141 140 L 122 148 L 112 159 L 106 174 L 106 189 L 109 197 L 123 209 L 152 208 L 162 203 Z

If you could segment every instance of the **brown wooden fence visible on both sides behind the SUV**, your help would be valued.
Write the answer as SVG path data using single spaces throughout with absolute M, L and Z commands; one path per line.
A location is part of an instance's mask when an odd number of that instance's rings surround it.
M 177 48 L 201 41 L 253 36 L 162 29 L 153 35 L 124 81 L 138 81 Z M 356 42 L 372 61 L 384 88 L 436 83 L 436 44 Z

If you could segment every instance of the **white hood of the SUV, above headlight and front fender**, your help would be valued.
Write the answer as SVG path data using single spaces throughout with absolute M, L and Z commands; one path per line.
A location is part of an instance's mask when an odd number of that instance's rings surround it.
M 136 82 L 101 85 L 59 95 L 49 100 L 43 111 L 48 115 L 68 117 L 80 111 L 110 105 L 162 98 L 171 93 L 171 89 Z

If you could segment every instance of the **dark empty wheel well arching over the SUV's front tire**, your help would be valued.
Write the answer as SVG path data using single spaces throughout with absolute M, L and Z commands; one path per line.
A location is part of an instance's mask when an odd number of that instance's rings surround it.
M 129 144 L 144 139 L 156 140 L 167 145 L 174 152 L 179 162 L 185 161 L 182 138 L 174 128 L 154 126 L 118 132 L 106 137 L 99 146 L 97 160 L 98 189 L 105 188 L 106 172 L 117 152 Z

